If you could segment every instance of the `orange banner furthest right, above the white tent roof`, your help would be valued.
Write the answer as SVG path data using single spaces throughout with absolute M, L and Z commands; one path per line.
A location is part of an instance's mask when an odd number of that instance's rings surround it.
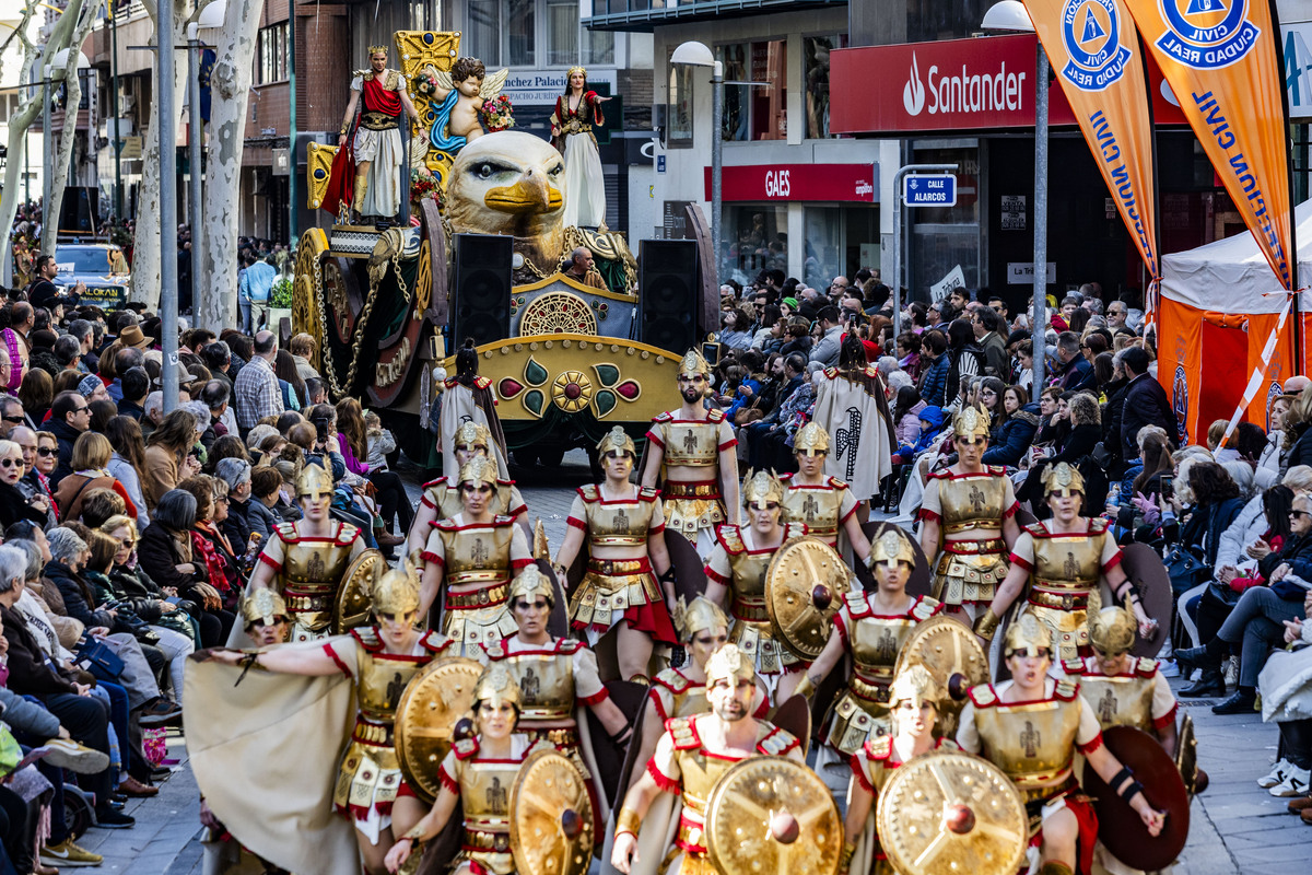
M 1294 291 L 1288 130 L 1269 0 L 1120 0 L 1244 223 Z

